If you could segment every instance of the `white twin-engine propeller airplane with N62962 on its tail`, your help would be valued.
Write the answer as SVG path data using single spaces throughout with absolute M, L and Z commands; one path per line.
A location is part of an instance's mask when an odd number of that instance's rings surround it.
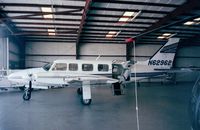
M 155 77 L 165 74 L 172 67 L 179 39 L 171 38 L 147 61 L 114 63 L 111 61 L 56 60 L 42 68 L 25 69 L 8 76 L 8 80 L 26 87 L 24 100 L 30 100 L 32 88 L 45 89 L 48 86 L 66 86 L 80 83 L 77 92 L 82 94 L 84 105 L 91 103 L 91 85 L 109 83 L 113 88 L 126 81 Z M 135 69 L 136 67 L 136 69 Z M 135 69 L 135 71 L 134 71 Z

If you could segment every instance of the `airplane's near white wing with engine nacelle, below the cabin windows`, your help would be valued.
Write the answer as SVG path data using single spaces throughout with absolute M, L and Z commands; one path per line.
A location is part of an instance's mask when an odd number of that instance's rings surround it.
M 66 74 L 66 72 L 42 72 L 32 78 L 33 88 L 45 88 L 45 86 L 67 86 L 74 83 L 89 81 L 90 85 L 112 84 L 116 79 L 90 74 Z

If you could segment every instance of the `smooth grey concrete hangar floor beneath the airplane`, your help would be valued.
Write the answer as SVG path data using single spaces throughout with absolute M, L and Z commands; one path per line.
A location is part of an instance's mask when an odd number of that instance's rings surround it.
M 76 88 L 0 92 L 0 130 L 136 130 L 134 85 L 123 96 L 92 89 L 93 102 L 83 106 Z M 193 83 L 141 83 L 138 89 L 140 130 L 190 130 L 187 113 Z

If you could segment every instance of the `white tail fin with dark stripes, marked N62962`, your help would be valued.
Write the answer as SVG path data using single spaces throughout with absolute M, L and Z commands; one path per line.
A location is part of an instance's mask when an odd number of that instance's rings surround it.
M 170 69 L 173 65 L 179 40 L 180 38 L 170 38 L 168 42 L 149 59 L 148 65 L 157 69 Z

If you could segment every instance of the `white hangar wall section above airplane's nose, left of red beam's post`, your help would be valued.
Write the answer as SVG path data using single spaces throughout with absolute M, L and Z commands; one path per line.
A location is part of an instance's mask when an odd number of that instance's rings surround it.
M 25 51 L 26 68 L 41 67 L 44 62 L 52 62 L 56 59 L 76 58 L 75 43 L 27 42 Z

